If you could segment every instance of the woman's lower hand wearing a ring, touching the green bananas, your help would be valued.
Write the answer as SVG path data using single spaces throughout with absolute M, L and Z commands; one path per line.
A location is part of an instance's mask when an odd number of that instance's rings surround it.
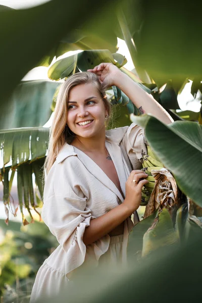
M 148 183 L 148 181 L 144 179 L 147 176 L 148 175 L 141 170 L 133 170 L 126 181 L 126 197 L 123 203 L 127 206 L 131 214 L 140 206 L 141 190 L 142 186 Z M 136 183 L 134 183 L 133 180 L 136 181 Z

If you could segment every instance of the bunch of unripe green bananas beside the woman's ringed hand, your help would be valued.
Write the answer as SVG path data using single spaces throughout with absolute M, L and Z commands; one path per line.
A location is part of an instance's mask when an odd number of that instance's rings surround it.
M 148 203 L 150 194 L 155 187 L 155 178 L 151 175 L 151 170 L 160 170 L 164 167 L 163 163 L 157 159 L 154 154 L 154 151 L 147 145 L 147 155 L 142 151 L 142 170 L 148 174 L 148 177 L 145 178 L 148 180 L 148 183 L 142 187 L 142 199 L 141 206 L 145 206 Z

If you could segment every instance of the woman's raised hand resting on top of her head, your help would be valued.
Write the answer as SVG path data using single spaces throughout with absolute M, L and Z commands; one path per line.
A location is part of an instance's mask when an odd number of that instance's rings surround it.
M 117 77 L 122 76 L 122 72 L 112 63 L 100 63 L 93 69 L 87 70 L 87 72 L 96 74 L 99 82 L 105 87 L 116 85 Z

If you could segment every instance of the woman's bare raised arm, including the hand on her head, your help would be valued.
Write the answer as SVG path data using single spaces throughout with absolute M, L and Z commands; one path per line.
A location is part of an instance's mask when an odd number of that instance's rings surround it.
M 142 114 L 151 114 L 165 124 L 173 122 L 171 116 L 153 96 L 139 87 L 112 63 L 101 63 L 88 71 L 97 74 L 103 85 L 118 86 Z

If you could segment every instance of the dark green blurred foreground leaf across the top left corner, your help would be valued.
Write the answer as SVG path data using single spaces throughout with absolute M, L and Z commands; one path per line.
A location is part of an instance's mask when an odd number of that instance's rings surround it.
M 99 5 L 92 0 L 52 0 L 31 9 L 0 12 L 1 104 L 25 74 L 75 29 L 75 16 L 79 27 L 84 20 L 96 18 L 106 4 L 106 0 Z M 50 16 L 54 16 L 53 26 Z

